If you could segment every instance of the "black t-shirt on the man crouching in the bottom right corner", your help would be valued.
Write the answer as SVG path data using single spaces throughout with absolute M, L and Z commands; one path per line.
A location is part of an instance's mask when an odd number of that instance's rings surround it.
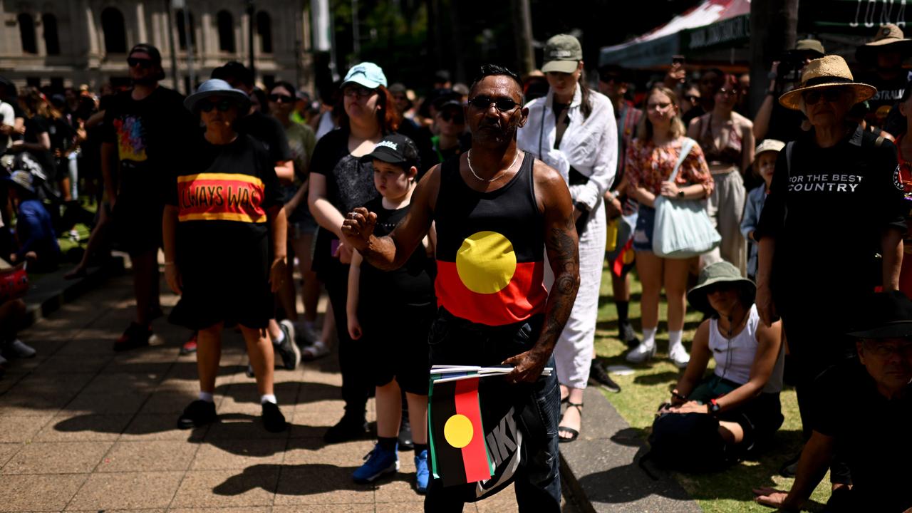
M 814 431 L 835 437 L 858 504 L 878 513 L 912 508 L 912 385 L 888 400 L 851 360 L 824 372 L 814 388 Z

